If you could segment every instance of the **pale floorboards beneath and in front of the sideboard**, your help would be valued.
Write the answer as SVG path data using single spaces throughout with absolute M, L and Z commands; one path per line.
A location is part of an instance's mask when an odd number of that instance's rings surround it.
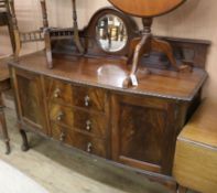
M 72 189 L 79 193 L 169 192 L 162 185 L 129 169 L 117 168 L 111 162 L 107 163 L 105 159 L 96 159 L 87 153 L 59 147 L 56 141 L 43 140 L 37 135 L 29 133 L 36 147 L 30 153 L 21 153 L 20 136 L 14 127 L 17 122 L 14 110 L 7 109 L 7 118 L 10 120 L 8 126 L 13 153 L 10 157 L 0 153 L 0 158 L 33 178 L 48 192 L 67 193 Z M 0 152 L 3 151 L 4 146 L 0 141 Z M 55 175 L 51 171 L 55 171 Z

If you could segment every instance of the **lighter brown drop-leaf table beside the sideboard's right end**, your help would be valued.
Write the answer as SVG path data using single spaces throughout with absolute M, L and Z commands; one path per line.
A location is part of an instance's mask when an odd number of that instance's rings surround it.
M 182 186 L 204 193 L 217 190 L 216 114 L 216 101 L 204 101 L 178 136 L 173 175 Z

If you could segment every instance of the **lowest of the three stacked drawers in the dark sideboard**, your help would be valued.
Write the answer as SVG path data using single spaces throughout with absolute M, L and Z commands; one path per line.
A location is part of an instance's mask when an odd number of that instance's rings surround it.
M 54 139 L 59 140 L 63 143 L 73 146 L 91 154 L 108 158 L 107 148 L 109 146 L 105 140 L 93 138 L 88 135 L 84 135 L 54 124 L 52 125 L 52 136 Z

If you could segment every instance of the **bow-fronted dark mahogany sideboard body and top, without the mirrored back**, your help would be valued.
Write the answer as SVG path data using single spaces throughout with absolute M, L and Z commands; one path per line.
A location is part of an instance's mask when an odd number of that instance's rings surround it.
M 46 67 L 44 52 L 9 64 L 23 150 L 31 130 L 176 185 L 176 137 L 199 101 L 203 68 L 140 68 L 139 86 L 124 89 L 122 58 L 56 56 L 53 64 Z

